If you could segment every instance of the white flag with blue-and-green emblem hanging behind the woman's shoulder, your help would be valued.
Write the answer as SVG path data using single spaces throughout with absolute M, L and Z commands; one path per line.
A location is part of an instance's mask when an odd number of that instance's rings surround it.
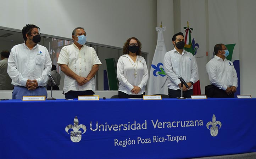
M 150 67 L 148 95 L 167 94 L 168 95 L 168 77 L 163 69 L 163 58 L 165 57 L 166 47 L 163 40 L 163 31 L 166 27 L 156 27 L 157 44 L 155 54 Z

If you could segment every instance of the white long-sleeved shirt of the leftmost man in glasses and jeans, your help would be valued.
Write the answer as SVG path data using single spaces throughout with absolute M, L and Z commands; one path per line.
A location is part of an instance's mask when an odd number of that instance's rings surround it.
M 51 71 L 51 58 L 46 47 L 36 44 L 30 50 L 24 43 L 13 46 L 8 59 L 8 74 L 15 86 L 26 87 L 27 80 L 46 86 Z

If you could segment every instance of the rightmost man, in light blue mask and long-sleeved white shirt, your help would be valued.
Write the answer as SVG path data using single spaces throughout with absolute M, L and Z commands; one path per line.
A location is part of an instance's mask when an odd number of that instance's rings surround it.
M 229 52 L 224 44 L 214 47 L 214 58 L 206 64 L 210 85 L 205 87 L 205 94 L 212 98 L 234 98 L 238 86 L 235 67 L 226 59 Z

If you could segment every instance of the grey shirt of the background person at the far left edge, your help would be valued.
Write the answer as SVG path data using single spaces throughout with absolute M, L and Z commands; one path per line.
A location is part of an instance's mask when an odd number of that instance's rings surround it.
M 1 56 L 1 55 L 0 55 Z M 7 73 L 8 58 L 0 61 L 0 90 L 12 90 L 12 79 Z

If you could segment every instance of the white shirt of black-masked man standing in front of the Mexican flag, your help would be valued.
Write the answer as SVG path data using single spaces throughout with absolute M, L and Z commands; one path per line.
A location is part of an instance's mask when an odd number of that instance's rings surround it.
M 178 76 L 181 75 L 186 83 L 195 83 L 197 78 L 197 64 L 195 57 L 190 52 L 183 49 L 180 54 L 175 48 L 165 54 L 164 64 L 165 73 L 168 76 L 168 88 L 177 90 L 180 89 L 178 84 L 180 80 Z M 191 86 L 189 89 L 193 89 Z

